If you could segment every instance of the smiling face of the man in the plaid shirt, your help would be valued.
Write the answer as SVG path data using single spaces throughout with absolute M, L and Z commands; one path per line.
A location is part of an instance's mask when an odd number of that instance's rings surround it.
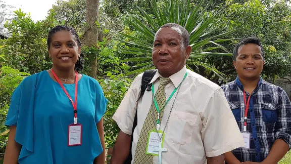
M 256 44 L 241 46 L 237 51 L 234 68 L 240 78 L 256 80 L 260 77 L 265 61 L 260 47 Z

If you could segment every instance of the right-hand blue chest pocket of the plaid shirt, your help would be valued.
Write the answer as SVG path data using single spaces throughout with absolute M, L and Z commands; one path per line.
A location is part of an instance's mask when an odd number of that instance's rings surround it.
M 277 108 L 274 103 L 262 103 L 263 121 L 267 124 L 275 124 L 277 121 Z

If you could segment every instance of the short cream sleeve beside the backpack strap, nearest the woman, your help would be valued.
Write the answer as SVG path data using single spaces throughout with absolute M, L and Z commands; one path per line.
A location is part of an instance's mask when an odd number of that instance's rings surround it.
M 131 135 L 132 132 L 135 106 L 141 86 L 141 76 L 138 75 L 134 78 L 130 88 L 112 117 L 120 130 L 128 135 Z

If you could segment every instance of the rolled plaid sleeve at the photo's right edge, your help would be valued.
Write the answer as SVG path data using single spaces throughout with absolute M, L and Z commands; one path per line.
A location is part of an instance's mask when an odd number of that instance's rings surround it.
M 274 134 L 276 139 L 282 139 L 291 149 L 291 105 L 284 90 L 279 95 Z

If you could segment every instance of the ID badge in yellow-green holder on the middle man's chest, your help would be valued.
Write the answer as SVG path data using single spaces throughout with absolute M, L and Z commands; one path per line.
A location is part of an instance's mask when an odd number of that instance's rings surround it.
M 161 130 L 159 130 L 159 135 L 162 136 L 162 147 L 164 144 L 164 137 L 165 135 Z M 151 154 L 155 156 L 159 156 L 159 152 L 154 152 L 154 148 L 159 148 L 160 138 L 156 130 L 151 130 L 148 135 L 148 143 L 147 143 L 147 151 L 146 154 Z

